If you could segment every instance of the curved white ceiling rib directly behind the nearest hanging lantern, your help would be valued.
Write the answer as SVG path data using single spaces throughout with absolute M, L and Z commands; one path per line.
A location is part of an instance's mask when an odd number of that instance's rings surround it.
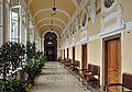
M 40 14 L 41 12 L 46 12 L 46 11 L 52 11 L 52 9 L 51 9 L 51 8 L 47 8 L 47 9 L 41 9 L 41 10 L 36 11 L 35 14 L 33 15 L 33 19 L 35 19 L 35 16 L 36 16 L 37 14 Z M 70 20 L 70 15 L 69 15 L 66 11 L 61 10 L 61 9 L 57 9 L 57 11 L 64 13 L 64 14 L 68 18 L 68 20 Z

